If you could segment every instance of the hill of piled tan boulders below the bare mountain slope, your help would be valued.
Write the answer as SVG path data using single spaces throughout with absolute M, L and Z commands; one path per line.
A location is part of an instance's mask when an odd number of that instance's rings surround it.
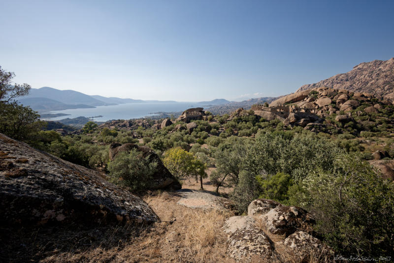
M 328 126 L 337 130 L 337 123 L 360 122 L 367 125 L 366 121 L 371 116 L 379 118 L 379 113 L 392 112 L 389 100 L 379 100 L 366 92 L 328 87 L 292 93 L 271 102 L 269 107 L 257 105 L 252 110 L 268 120 L 276 118 L 286 125 L 299 125 L 314 131 L 328 131 Z

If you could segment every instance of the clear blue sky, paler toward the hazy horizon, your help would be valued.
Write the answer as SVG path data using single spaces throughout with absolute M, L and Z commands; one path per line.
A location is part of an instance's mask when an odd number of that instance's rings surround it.
M 394 56 L 393 0 L 0 0 L 0 66 L 33 88 L 278 96 Z

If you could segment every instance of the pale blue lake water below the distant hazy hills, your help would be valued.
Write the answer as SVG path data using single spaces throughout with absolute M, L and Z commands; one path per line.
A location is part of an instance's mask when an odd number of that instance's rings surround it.
M 149 115 L 157 115 L 157 112 L 183 112 L 189 108 L 202 107 L 196 102 L 171 102 L 171 103 L 127 103 L 113 106 L 98 106 L 90 109 L 70 109 L 63 111 L 52 111 L 49 113 L 65 113 L 67 116 L 59 116 L 55 118 L 45 118 L 46 120 L 60 120 L 64 118 L 75 118 L 79 116 L 96 117 L 96 121 L 107 121 L 110 119 L 132 119 L 141 118 Z

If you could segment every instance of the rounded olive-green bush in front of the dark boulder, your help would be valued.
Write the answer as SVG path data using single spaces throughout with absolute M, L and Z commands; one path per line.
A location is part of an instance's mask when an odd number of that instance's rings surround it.
M 157 161 L 151 161 L 149 155 L 144 157 L 141 152 L 133 149 L 120 152 L 115 160 L 108 164 L 111 181 L 133 191 L 149 188 L 153 174 L 156 172 Z

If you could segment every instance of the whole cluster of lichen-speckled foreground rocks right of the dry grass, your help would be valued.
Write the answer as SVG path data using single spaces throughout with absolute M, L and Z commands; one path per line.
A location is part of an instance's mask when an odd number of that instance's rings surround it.
M 237 262 L 333 262 L 333 251 L 311 234 L 313 224 L 302 208 L 254 200 L 247 216 L 230 217 L 223 226 L 227 253 Z

